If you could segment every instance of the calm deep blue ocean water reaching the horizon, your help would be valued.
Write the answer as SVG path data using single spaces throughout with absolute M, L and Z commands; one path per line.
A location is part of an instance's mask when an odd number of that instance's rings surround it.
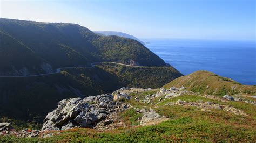
M 242 84 L 256 84 L 256 43 L 190 39 L 143 39 L 146 47 L 182 74 L 211 71 Z

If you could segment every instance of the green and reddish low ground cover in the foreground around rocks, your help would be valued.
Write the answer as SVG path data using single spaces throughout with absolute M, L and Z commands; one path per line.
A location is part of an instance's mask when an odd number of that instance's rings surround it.
M 91 129 L 76 128 L 64 131 L 50 138 L 16 138 L 2 137 L 0 141 L 239 141 L 253 142 L 256 139 L 256 107 L 252 104 L 244 102 L 227 102 L 214 101 L 198 95 L 182 95 L 172 99 L 164 99 L 170 101 L 213 101 L 219 104 L 231 105 L 246 112 L 249 116 L 239 116 L 231 112 L 223 110 L 211 109 L 208 111 L 200 111 L 200 108 L 191 106 L 177 106 L 157 104 L 143 104 L 134 101 L 135 97 L 144 97 L 147 94 L 153 94 L 155 91 L 141 92 L 132 94 L 133 97 L 129 102 L 134 107 L 146 109 L 152 108 L 160 115 L 165 115 L 170 119 L 157 125 L 151 126 L 129 126 L 127 128 L 117 128 L 109 131 L 96 131 Z M 140 115 L 129 109 L 121 113 L 120 120 L 128 125 L 137 125 L 136 120 Z

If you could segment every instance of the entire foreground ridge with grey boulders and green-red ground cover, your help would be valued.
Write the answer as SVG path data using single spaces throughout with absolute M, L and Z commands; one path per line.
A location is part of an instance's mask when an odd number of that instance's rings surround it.
M 1 142 L 253 142 L 255 100 L 186 89 L 122 88 L 60 101 L 41 131 L 9 131 Z

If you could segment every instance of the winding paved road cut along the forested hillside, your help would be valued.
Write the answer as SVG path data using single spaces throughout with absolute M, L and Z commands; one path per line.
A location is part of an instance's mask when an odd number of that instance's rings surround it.
M 83 68 L 93 68 L 97 63 L 104 63 L 104 62 L 93 62 L 91 63 L 89 67 L 83 67 Z M 129 66 L 129 67 L 144 67 L 144 66 L 132 66 L 132 65 L 126 65 L 124 63 L 118 63 L 118 62 L 105 62 L 105 63 L 115 63 L 118 65 L 123 65 L 123 66 Z M 47 73 L 47 74 L 38 74 L 38 75 L 24 75 L 24 76 L 0 76 L 0 77 L 34 77 L 34 76 L 43 76 L 43 75 L 52 75 L 52 74 L 57 74 L 62 71 L 62 69 L 67 69 L 67 68 L 79 68 L 79 67 L 62 67 L 62 68 L 57 68 L 55 72 L 53 73 Z

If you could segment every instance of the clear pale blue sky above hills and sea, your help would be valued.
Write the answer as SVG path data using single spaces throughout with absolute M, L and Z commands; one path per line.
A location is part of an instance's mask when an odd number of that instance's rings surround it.
M 254 0 L 0 0 L 0 17 L 76 23 L 138 38 L 256 41 Z

